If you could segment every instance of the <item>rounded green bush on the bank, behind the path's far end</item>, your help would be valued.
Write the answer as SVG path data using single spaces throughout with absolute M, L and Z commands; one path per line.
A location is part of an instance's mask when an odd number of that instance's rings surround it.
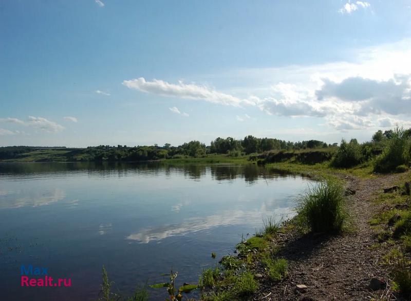
M 332 158 L 331 165 L 334 167 L 351 167 L 362 162 L 361 146 L 357 139 L 351 139 L 349 143 L 344 139 L 341 140 L 341 145 Z

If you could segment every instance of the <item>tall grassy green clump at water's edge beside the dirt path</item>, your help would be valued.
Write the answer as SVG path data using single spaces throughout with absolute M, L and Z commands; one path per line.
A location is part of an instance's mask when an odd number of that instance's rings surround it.
M 327 179 L 308 189 L 297 210 L 298 216 L 313 232 L 341 231 L 346 218 L 344 201 L 341 183 Z

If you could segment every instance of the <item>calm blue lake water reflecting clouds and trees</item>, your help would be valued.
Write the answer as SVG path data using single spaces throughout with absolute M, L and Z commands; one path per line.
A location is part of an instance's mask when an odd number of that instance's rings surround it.
M 308 181 L 252 164 L 0 164 L 2 300 L 96 300 L 103 264 L 123 294 L 170 268 L 196 282 L 211 252 L 291 217 Z M 71 287 L 21 287 L 22 264 Z

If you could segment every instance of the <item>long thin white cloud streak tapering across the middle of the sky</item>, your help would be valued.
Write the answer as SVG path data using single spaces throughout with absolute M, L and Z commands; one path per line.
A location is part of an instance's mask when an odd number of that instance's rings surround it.
M 207 86 L 185 84 L 182 81 L 179 81 L 178 84 L 172 84 L 157 79 L 146 81 L 143 77 L 140 77 L 137 79 L 125 80 L 123 81 L 123 85 L 128 88 L 155 95 L 204 100 L 212 103 L 233 105 L 234 107 L 240 107 L 241 104 L 254 104 L 247 99 L 240 99 L 230 94 L 218 92 Z

